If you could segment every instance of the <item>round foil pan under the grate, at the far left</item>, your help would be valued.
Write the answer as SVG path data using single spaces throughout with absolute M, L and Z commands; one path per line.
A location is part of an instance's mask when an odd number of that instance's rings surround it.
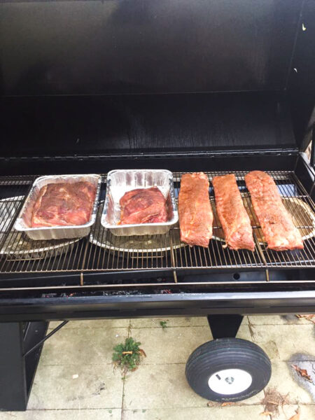
M 56 256 L 64 251 L 69 250 L 71 244 L 75 244 L 80 239 L 73 239 L 71 241 L 66 239 L 51 239 L 50 241 L 32 241 L 25 235 L 25 232 L 18 232 L 12 230 L 8 233 L 6 229 L 12 223 L 15 212 L 18 210 L 24 196 L 10 197 L 0 200 L 0 241 L 6 236 L 2 242 L 0 255 L 6 256 L 7 259 L 13 260 L 34 260 L 49 258 Z

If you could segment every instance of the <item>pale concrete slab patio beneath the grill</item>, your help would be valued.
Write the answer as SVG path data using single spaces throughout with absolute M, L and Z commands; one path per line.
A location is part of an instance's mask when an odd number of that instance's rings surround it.
M 207 318 L 71 321 L 43 347 L 27 412 L 2 412 L 1 420 L 300 420 L 315 419 L 315 325 L 306 318 L 246 316 L 237 337 L 251 340 L 272 360 L 265 392 L 224 407 L 196 395 L 186 383 L 190 353 L 211 339 Z M 58 325 L 50 323 L 50 328 Z M 146 351 L 139 369 L 123 380 L 113 369 L 113 346 L 133 337 Z M 267 414 L 266 392 L 280 395 Z M 282 398 L 282 400 L 281 400 Z M 272 400 L 272 398 L 271 398 Z M 262 415 L 261 413 L 264 413 Z

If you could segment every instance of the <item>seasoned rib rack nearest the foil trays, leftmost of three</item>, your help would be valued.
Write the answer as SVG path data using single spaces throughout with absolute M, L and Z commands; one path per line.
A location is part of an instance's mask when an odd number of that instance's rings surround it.
M 207 175 L 203 172 L 184 174 L 179 191 L 181 241 L 207 248 L 212 237 L 213 218 Z

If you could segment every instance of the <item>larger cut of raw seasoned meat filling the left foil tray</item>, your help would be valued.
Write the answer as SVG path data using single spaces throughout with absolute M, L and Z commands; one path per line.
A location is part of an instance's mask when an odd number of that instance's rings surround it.
M 85 225 L 96 188 L 90 182 L 50 183 L 41 188 L 33 207 L 32 228 Z

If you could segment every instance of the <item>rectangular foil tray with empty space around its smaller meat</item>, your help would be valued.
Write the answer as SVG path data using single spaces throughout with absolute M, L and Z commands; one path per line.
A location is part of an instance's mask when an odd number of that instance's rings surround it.
M 141 223 L 118 225 L 120 221 L 119 200 L 127 191 L 136 188 L 160 189 L 169 209 L 169 221 L 165 223 Z M 165 169 L 115 170 L 107 174 L 106 197 L 101 218 L 104 228 L 116 236 L 163 235 L 179 221 L 174 193 L 173 174 Z

